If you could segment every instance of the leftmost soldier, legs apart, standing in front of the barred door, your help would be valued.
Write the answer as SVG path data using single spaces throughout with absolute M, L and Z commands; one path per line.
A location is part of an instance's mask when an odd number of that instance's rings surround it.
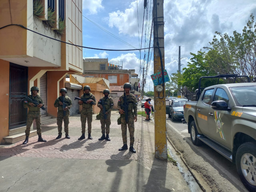
M 44 102 L 41 99 L 41 97 L 39 95 L 37 95 L 37 93 L 39 92 L 38 87 L 33 86 L 33 87 L 31 87 L 30 91 L 31 91 L 31 95 L 28 95 L 28 97 L 32 100 L 35 100 L 37 103 L 39 103 L 39 105 L 35 105 L 34 103 L 28 102 L 28 101 L 25 101 L 23 103 L 23 107 L 29 109 L 28 117 L 27 117 L 27 128 L 26 128 L 26 131 L 25 131 L 26 139 L 22 143 L 23 145 L 28 143 L 30 127 L 31 127 L 34 119 L 36 120 L 36 133 L 38 135 L 38 141 L 46 142 L 46 140 L 44 140 L 42 138 L 42 134 L 41 134 L 41 112 L 40 112 L 40 108 L 42 106 L 44 106 Z

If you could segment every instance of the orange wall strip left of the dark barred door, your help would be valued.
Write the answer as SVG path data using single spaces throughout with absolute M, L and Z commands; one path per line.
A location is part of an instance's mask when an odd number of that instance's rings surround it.
M 1 84 L 1 108 L 0 110 L 0 143 L 4 142 L 3 138 L 9 135 L 9 74 L 10 65 L 8 61 L 0 59 L 1 73 L 0 73 L 0 84 Z

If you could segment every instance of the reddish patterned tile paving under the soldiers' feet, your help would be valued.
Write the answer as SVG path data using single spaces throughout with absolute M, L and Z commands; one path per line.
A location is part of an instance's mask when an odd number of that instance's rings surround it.
M 73 127 L 81 127 L 80 119 L 71 120 Z M 47 125 L 48 127 L 57 127 L 57 124 Z M 46 127 L 47 127 L 46 126 Z M 100 121 L 95 121 L 94 126 L 100 127 Z M 111 129 L 120 129 L 117 122 L 111 123 Z M 135 123 L 135 129 L 140 132 L 154 132 L 154 125 L 143 122 L 141 120 Z M 37 142 L 38 137 L 29 138 L 27 145 L 22 145 L 23 141 L 17 142 L 12 146 L 0 148 L 0 156 L 19 156 L 19 157 L 41 157 L 41 158 L 75 158 L 75 159 L 102 159 L 102 160 L 130 160 L 152 163 L 155 150 L 154 140 L 144 140 L 135 138 L 134 148 L 137 151 L 132 153 L 129 151 L 129 131 L 127 130 L 128 149 L 118 151 L 123 146 L 122 137 L 110 137 L 111 141 L 101 140 L 93 137 L 92 140 L 87 138 L 77 140 L 79 136 L 65 139 L 64 137 L 56 140 L 56 135 L 44 135 L 43 138 L 47 142 Z M 153 137 L 154 139 L 154 137 Z M 157 162 L 163 164 L 163 162 Z

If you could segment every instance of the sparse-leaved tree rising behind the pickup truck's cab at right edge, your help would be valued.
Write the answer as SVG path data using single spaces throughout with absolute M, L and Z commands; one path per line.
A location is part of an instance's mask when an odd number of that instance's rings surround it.
M 253 14 L 247 21 L 243 33 L 215 32 L 217 36 L 209 42 L 212 49 L 205 59 L 217 74 L 247 75 L 256 82 L 256 23 Z M 242 81 L 242 80 L 241 80 Z

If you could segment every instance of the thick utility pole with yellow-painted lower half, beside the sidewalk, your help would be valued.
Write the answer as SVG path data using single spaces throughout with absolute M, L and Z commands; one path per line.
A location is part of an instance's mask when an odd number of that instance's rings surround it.
M 164 0 L 153 0 L 154 73 L 164 70 Z M 162 65 L 161 65 L 162 61 Z M 164 77 L 164 74 L 162 74 Z M 163 78 L 164 80 L 164 78 Z M 167 159 L 165 85 L 161 92 L 154 86 L 155 104 L 155 157 Z

